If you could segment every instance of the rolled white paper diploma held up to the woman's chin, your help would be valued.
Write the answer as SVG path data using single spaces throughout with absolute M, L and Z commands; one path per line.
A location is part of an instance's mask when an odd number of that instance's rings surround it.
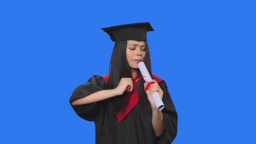
M 151 80 L 152 80 L 151 76 L 149 75 L 148 69 L 146 68 L 146 65 L 144 64 L 144 62 L 140 62 L 138 64 L 138 66 L 139 66 L 139 69 L 141 71 L 141 75 L 145 76 L 145 77 L 143 77 L 143 79 L 146 82 L 151 82 Z M 158 108 L 158 111 L 161 111 L 164 108 L 164 103 L 161 100 L 161 97 L 160 97 L 159 93 L 158 92 L 154 92 L 153 94 L 151 94 L 151 96 L 152 96 L 152 98 L 154 100 L 154 104 Z

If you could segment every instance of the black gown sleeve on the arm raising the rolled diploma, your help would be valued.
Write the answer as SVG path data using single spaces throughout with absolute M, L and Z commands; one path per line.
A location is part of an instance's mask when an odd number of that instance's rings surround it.
M 164 132 L 159 137 L 155 137 L 156 144 L 171 144 L 177 135 L 177 112 L 171 100 L 171 96 L 167 90 L 164 82 L 159 83 L 160 88 L 163 90 L 163 103 L 164 109 L 162 110 L 164 120 Z

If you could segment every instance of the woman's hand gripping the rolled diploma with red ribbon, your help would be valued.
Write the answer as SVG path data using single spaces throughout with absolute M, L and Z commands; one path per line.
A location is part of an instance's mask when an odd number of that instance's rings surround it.
M 147 95 L 148 95 L 148 101 L 150 102 L 151 104 L 151 108 L 152 110 L 153 109 L 157 109 L 156 108 L 156 105 L 154 104 L 154 100 L 151 96 L 151 94 L 153 94 L 154 92 L 158 92 L 159 95 L 160 95 L 160 98 L 163 99 L 163 95 L 164 95 L 164 92 L 163 90 L 160 88 L 160 86 L 158 85 L 158 82 L 154 79 L 152 79 L 151 81 L 153 84 L 150 85 L 150 88 L 146 91 Z M 147 86 L 146 83 L 144 83 L 144 88 Z

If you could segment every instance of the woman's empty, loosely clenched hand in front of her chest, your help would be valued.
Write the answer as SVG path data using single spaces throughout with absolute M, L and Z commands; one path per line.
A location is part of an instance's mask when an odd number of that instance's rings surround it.
M 133 82 L 131 78 L 122 78 L 115 88 L 119 95 L 122 95 L 127 92 L 131 92 L 133 90 Z

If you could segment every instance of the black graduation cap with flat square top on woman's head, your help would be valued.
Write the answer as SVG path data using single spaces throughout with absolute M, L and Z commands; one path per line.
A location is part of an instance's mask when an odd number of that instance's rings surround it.
M 113 42 L 122 40 L 147 40 L 147 32 L 154 31 L 150 23 L 131 23 L 125 25 L 102 28 Z

